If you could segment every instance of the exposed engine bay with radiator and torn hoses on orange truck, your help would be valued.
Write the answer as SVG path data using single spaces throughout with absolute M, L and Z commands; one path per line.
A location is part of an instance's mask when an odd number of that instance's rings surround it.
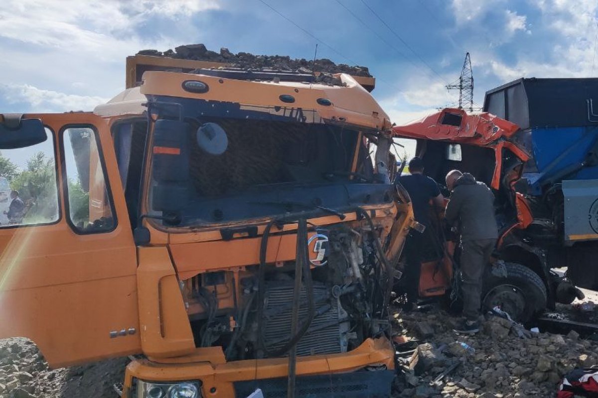
M 343 353 L 388 334 L 388 275 L 371 219 L 304 232 L 299 260 L 181 282 L 197 347 L 221 346 L 227 360 L 285 357 L 291 347 L 309 356 Z

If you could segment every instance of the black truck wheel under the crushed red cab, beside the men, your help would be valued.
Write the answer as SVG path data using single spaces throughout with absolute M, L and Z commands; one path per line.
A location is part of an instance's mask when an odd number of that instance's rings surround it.
M 546 308 L 548 295 L 542 278 L 521 264 L 506 263 L 507 277 L 488 273 L 484 278 L 482 307 L 496 306 L 513 320 L 525 323 Z

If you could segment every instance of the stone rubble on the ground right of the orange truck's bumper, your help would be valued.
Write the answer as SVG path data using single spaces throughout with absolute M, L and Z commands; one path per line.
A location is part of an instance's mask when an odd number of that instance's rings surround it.
M 453 332 L 458 322 L 436 308 L 396 311 L 393 327 L 419 340 L 419 362 L 396 379 L 393 397 L 554 397 L 563 375 L 598 363 L 598 343 L 580 338 L 575 331 L 533 333 L 507 319 L 487 316 L 478 334 L 466 335 Z M 475 352 L 468 352 L 468 346 Z M 459 366 L 453 372 L 431 385 L 455 363 Z

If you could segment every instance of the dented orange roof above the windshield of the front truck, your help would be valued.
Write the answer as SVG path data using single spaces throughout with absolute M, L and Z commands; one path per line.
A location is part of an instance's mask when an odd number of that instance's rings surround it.
M 374 97 L 352 76 L 335 75 L 340 85 L 301 81 L 248 81 L 209 76 L 200 73 L 145 72 L 141 87 L 129 88 L 108 103 L 94 109 L 99 116 L 142 115 L 144 103 L 156 97 L 178 97 L 219 103 L 234 103 L 262 109 L 263 112 L 312 111 L 312 122 L 337 123 L 355 128 L 383 130 L 390 128 L 389 117 Z M 205 92 L 192 92 L 185 82 L 206 85 Z M 303 121 L 309 122 L 309 121 Z

